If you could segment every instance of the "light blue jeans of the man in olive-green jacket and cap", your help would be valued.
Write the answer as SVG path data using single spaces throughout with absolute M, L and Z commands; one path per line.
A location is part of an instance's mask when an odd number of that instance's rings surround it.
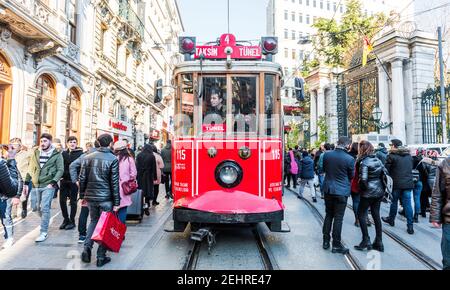
M 41 216 L 41 233 L 48 232 L 50 223 L 50 209 L 52 207 L 54 188 L 33 188 L 30 194 L 31 208 Z

